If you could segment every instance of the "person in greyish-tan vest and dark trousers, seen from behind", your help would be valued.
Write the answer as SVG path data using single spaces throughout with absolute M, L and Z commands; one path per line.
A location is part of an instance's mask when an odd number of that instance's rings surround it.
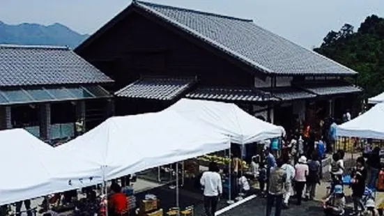
M 277 166 L 270 169 L 270 178 L 268 179 L 270 187 L 268 188 L 266 215 L 272 213 L 272 206 L 275 203 L 275 216 L 282 214 L 282 201 L 286 183 L 286 172 L 282 169 L 283 161 L 279 158 Z

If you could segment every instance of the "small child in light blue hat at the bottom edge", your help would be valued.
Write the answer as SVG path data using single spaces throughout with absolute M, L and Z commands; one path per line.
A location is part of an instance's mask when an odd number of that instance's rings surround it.
M 335 185 L 333 193 L 325 199 L 324 212 L 327 216 L 339 216 L 345 213 L 346 199 L 343 186 Z

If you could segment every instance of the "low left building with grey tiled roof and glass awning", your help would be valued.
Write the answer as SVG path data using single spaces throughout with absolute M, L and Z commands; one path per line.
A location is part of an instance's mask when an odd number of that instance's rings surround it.
M 107 77 L 68 47 L 0 45 L 0 129 L 44 141 L 74 137 L 112 116 Z M 83 130 L 84 131 L 84 130 Z

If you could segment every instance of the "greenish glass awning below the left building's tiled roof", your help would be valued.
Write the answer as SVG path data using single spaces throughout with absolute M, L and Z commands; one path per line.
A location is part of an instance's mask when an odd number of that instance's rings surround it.
M 101 86 L 24 86 L 0 90 L 0 105 L 111 98 Z

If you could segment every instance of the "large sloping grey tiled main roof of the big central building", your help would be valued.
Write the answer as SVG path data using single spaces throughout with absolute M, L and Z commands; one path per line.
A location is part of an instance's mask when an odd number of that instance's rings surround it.
M 176 26 L 261 72 L 278 75 L 353 75 L 312 50 L 300 47 L 252 20 L 134 1 L 133 6 Z

